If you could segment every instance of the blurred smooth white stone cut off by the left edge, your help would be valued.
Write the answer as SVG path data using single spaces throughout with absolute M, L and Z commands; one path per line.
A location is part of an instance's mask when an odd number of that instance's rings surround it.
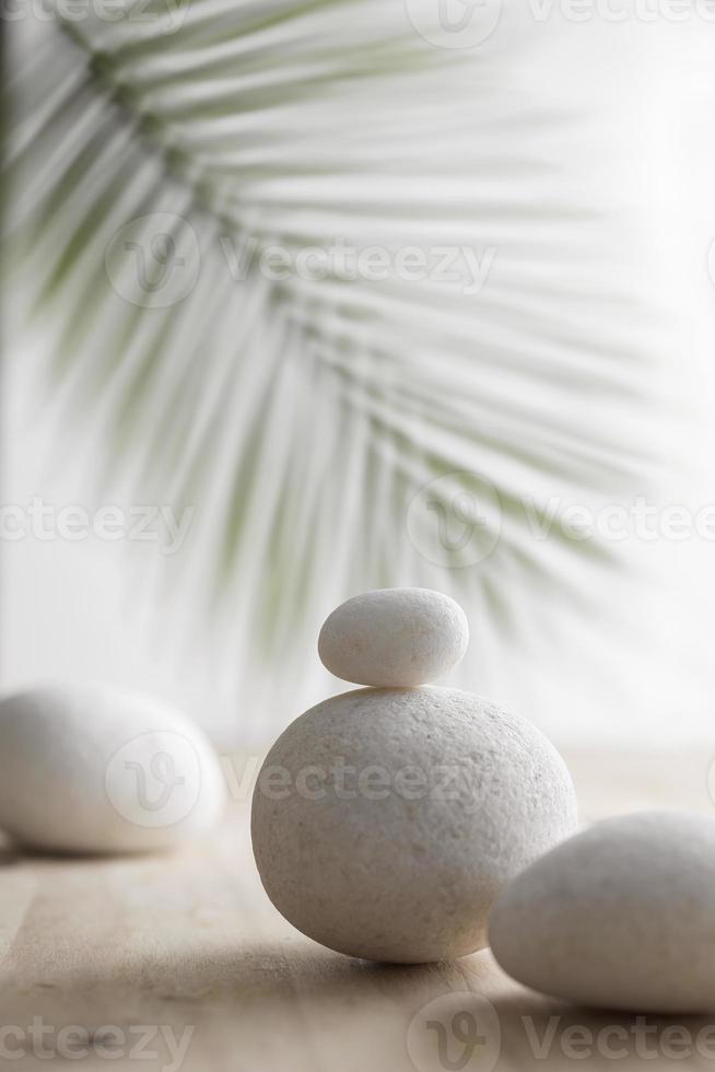
M 21 844 L 169 848 L 215 824 L 224 784 L 203 733 L 152 697 L 87 686 L 0 701 L 0 828 Z

